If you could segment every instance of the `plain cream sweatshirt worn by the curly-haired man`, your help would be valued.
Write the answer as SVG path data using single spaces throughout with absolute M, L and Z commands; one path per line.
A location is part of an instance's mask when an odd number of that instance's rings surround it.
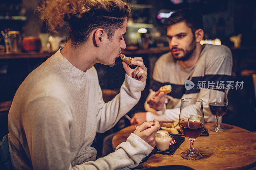
M 127 75 L 104 103 L 94 67 L 83 72 L 58 50 L 18 88 L 8 116 L 15 169 L 130 169 L 153 148 L 133 133 L 116 151 L 96 159 L 96 132 L 111 129 L 140 99 L 146 82 Z

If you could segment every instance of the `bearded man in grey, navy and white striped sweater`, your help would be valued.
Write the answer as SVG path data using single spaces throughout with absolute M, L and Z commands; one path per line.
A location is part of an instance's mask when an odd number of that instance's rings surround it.
M 203 100 L 204 118 L 214 116 L 208 106 L 209 87 L 226 86 L 232 71 L 232 54 L 224 45 L 201 45 L 204 37 L 203 17 L 191 9 L 181 9 L 165 19 L 170 52 L 156 62 L 150 93 L 145 102 L 147 112 L 135 113 L 131 124 L 157 119 L 162 122 L 179 120 L 180 99 Z M 172 85 L 172 92 L 158 91 Z

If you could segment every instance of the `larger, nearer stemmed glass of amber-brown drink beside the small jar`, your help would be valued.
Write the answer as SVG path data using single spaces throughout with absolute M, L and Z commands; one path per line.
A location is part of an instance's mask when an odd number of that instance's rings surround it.
M 180 155 L 184 159 L 198 160 L 203 155 L 194 151 L 194 140 L 204 130 L 204 111 L 202 99 L 181 99 L 179 125 L 180 131 L 189 139 L 190 149 Z

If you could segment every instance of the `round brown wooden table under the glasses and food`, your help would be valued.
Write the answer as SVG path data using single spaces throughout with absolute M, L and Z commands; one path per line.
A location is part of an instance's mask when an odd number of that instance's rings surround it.
M 205 123 L 209 129 L 215 123 Z M 212 132 L 208 130 L 209 137 L 198 137 L 194 143 L 194 150 L 203 154 L 200 160 L 186 160 L 180 154 L 189 149 L 189 140 L 180 145 L 173 155 L 151 155 L 140 167 L 154 167 L 165 165 L 184 165 L 193 169 L 247 169 L 256 166 L 256 134 L 228 124 L 221 124 L 226 132 Z M 136 125 L 128 126 L 113 137 L 114 150 L 117 145 L 126 141 L 135 130 Z

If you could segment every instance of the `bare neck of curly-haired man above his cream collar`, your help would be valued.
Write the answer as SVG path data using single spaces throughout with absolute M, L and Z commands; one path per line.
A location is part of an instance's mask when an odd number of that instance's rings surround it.
M 72 47 L 71 41 L 65 44 L 65 46 L 60 50 L 61 55 L 63 55 L 72 65 L 81 71 L 87 71 L 96 63 L 95 54 L 91 50 L 93 47 L 88 46 L 89 43 L 84 43 L 76 48 Z M 90 49 L 90 50 L 88 50 Z

